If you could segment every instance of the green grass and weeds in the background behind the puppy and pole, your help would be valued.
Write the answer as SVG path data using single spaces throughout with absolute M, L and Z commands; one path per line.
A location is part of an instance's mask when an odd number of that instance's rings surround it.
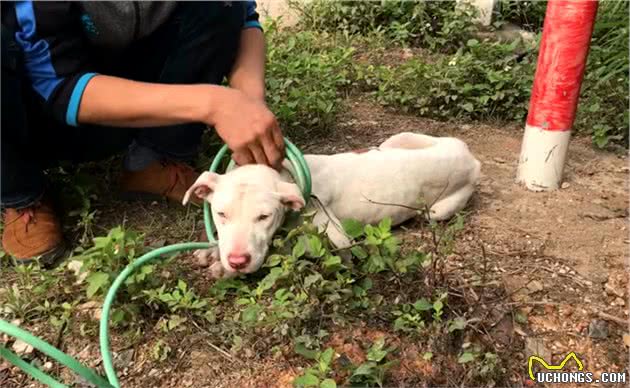
M 383 105 L 430 118 L 522 123 L 545 3 L 500 3 L 496 26 L 506 21 L 522 24 L 538 34 L 532 44 L 480 41 L 471 22 L 474 13 L 452 3 L 316 0 L 298 5 L 302 14 L 298 30 L 287 40 L 279 39 L 274 29 L 270 41 L 272 52 L 287 54 L 272 56 L 288 63 L 272 61 L 275 70 L 273 85 L 270 83 L 272 91 L 281 89 L 280 85 L 291 90 L 281 90 L 277 93 L 280 100 L 274 100 L 280 103 L 287 94 L 291 96 L 278 108 L 288 118 L 286 125 L 301 130 L 313 125 L 325 128 L 334 120 L 344 94 L 362 92 Z M 578 133 L 590 135 L 601 148 L 610 143 L 628 144 L 628 4 L 605 0 L 600 5 L 574 124 Z M 381 65 L 364 63 L 356 55 L 366 49 L 386 53 L 397 47 L 430 54 Z M 304 90 L 298 82 L 302 78 L 318 85 L 317 91 Z M 322 102 L 315 101 L 320 97 Z M 324 98 L 335 101 L 334 106 L 327 106 Z M 294 120 L 282 106 L 297 112 L 308 107 L 318 115 L 315 120 Z

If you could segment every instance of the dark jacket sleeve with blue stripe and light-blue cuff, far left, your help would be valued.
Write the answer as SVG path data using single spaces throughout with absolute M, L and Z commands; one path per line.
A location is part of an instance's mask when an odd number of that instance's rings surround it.
M 83 90 L 96 75 L 75 12 L 72 2 L 19 1 L 2 17 L 22 49 L 33 89 L 57 120 L 73 126 Z

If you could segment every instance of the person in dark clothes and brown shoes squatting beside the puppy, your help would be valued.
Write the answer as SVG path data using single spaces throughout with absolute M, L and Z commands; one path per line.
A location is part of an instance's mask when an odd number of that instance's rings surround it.
M 121 192 L 177 202 L 207 127 L 238 164 L 277 166 L 258 18 L 253 1 L 2 2 L 4 250 L 63 254 L 44 174 L 59 161 L 126 151 Z

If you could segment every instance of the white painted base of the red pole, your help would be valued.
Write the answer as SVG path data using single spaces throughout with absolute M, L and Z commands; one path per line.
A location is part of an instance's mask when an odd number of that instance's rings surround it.
M 570 139 L 571 131 L 546 131 L 525 125 L 517 182 L 532 191 L 558 189 Z

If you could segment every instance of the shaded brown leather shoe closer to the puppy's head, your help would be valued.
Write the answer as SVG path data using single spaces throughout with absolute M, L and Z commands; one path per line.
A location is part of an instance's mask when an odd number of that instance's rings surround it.
M 124 199 L 140 200 L 166 197 L 181 204 L 186 190 L 198 177 L 199 174 L 185 163 L 153 162 L 144 170 L 123 172 L 120 179 L 121 196 Z M 202 203 L 197 197 L 192 202 Z

